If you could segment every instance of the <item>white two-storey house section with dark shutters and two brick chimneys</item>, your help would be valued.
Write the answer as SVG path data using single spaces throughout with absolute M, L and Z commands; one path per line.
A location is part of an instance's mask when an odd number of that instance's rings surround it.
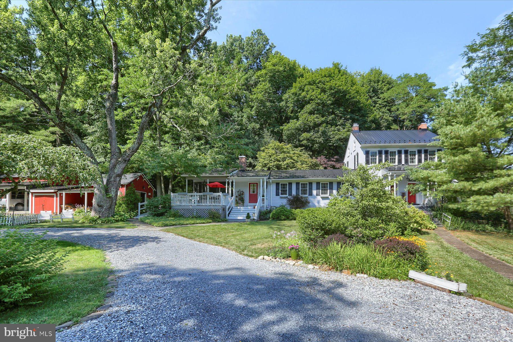
M 360 131 L 354 124 L 344 156 L 344 164 L 356 169 L 359 164 L 376 165 L 389 162 L 391 167 L 380 170 L 380 175 L 389 179 L 404 174 L 403 179 L 392 187 L 397 196 L 402 196 L 413 205 L 432 205 L 433 200 L 422 193 L 412 194 L 407 187 L 416 182 L 408 179 L 407 166 L 419 166 L 427 160 L 438 160 L 442 149 L 432 146 L 436 134 L 422 123 L 416 130 Z

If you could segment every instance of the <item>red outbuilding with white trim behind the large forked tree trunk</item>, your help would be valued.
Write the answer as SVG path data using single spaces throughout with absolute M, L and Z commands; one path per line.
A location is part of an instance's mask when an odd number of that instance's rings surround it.
M 105 176 L 104 176 L 105 179 Z M 18 181 L 18 177 L 14 177 Z M 0 189 L 11 186 L 7 179 L 2 179 Z M 121 179 L 120 195 L 125 194 L 128 187 L 134 187 L 141 196 L 141 203 L 146 198 L 152 198 L 155 189 L 143 173 L 127 173 Z M 27 180 L 18 184 L 18 190 L 9 192 L 0 198 L 0 204 L 7 211 L 25 211 L 39 214 L 41 211 L 51 211 L 60 214 L 64 209 L 84 206 L 87 210 L 92 207 L 94 191 L 92 186 L 52 185 L 45 180 Z

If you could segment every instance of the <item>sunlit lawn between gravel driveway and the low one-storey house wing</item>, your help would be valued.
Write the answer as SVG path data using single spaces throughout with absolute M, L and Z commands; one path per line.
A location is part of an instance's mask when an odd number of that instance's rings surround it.
M 284 230 L 288 233 L 295 228 L 295 221 L 270 220 L 226 225 L 173 227 L 163 229 L 163 231 L 206 244 L 222 246 L 242 255 L 258 257 L 267 254 L 269 248 L 272 247 L 272 232 Z

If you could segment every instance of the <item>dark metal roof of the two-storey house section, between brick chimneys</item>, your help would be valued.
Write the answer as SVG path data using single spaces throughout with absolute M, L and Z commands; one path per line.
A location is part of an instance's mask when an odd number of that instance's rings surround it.
M 435 142 L 435 133 L 428 130 L 389 130 L 351 132 L 362 145 L 369 144 L 429 144 Z

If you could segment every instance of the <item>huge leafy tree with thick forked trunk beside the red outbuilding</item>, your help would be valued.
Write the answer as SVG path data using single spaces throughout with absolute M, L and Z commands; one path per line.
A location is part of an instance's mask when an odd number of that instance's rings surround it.
M 0 59 L 0 82 L 32 100 L 98 172 L 100 162 L 74 122 L 75 105 L 85 100 L 77 97 L 95 92 L 104 100 L 105 118 L 98 124 L 106 123 L 108 170 L 106 183 L 94 184 L 92 214 L 114 213 L 123 171 L 168 92 L 192 73 L 191 51 L 201 50 L 205 34 L 219 21 L 219 2 L 33 0 L 22 16 L 2 1 L 0 46 L 8 54 Z M 139 126 L 122 150 L 116 111 L 127 107 Z

